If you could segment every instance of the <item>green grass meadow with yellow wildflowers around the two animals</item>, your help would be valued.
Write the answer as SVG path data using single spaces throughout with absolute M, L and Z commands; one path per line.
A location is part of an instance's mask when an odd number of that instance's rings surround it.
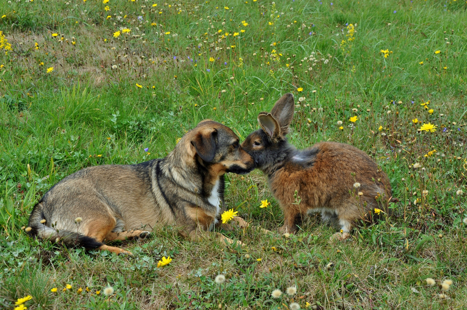
M 466 2 L 331 1 L 2 0 L 0 309 L 28 295 L 30 310 L 467 309 Z M 291 142 L 366 151 L 399 200 L 392 217 L 344 242 L 318 214 L 289 237 L 224 232 L 243 248 L 167 227 L 119 245 L 134 257 L 24 232 L 65 176 L 163 157 L 206 118 L 243 140 L 286 92 L 301 98 Z M 225 203 L 282 225 L 261 172 L 227 175 Z

